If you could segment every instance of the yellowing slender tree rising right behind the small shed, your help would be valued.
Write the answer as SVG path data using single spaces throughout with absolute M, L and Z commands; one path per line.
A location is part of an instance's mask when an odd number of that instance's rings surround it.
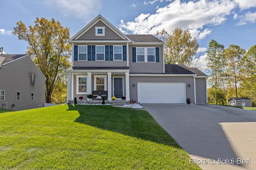
M 224 55 L 227 61 L 226 76 L 230 85 L 234 85 L 236 97 L 238 97 L 238 83 L 241 80 L 241 68 L 243 63 L 241 60 L 246 55 L 246 50 L 241 49 L 238 45 L 230 45 L 224 50 Z M 232 87 L 230 87 L 231 89 Z

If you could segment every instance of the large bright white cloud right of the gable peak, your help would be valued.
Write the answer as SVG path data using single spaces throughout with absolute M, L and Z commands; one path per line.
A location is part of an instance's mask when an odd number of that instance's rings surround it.
M 189 29 L 197 39 L 203 39 L 211 32 L 210 29 L 204 29 L 204 26 L 224 23 L 235 6 L 230 0 L 174 0 L 159 8 L 156 14 L 140 14 L 134 21 L 120 24 L 119 28 L 134 34 L 156 34 L 156 31 L 162 29 L 171 33 L 176 27 L 180 27 Z

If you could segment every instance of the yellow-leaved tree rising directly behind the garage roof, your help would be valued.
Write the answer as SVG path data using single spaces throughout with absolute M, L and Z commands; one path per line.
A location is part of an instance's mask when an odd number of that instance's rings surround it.
M 172 34 L 164 29 L 157 31 L 157 36 L 164 41 L 164 57 L 166 64 L 185 64 L 193 67 L 194 56 L 196 55 L 199 43 L 192 38 L 188 29 L 176 28 Z

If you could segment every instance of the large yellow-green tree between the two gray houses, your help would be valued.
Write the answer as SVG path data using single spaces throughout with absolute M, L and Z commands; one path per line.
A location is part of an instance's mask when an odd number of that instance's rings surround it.
M 28 42 L 28 55 L 46 77 L 46 103 L 51 103 L 51 95 L 60 77 L 66 75 L 65 69 L 71 66 L 71 46 L 68 43 L 70 32 L 59 21 L 45 18 L 34 21 L 28 28 L 22 21 L 16 23 L 14 35 Z

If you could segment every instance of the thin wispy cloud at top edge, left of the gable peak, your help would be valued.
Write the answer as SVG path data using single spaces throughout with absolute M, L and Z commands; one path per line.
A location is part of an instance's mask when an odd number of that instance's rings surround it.
M 102 8 L 100 0 L 44 0 L 48 6 L 58 9 L 64 16 L 91 19 Z

